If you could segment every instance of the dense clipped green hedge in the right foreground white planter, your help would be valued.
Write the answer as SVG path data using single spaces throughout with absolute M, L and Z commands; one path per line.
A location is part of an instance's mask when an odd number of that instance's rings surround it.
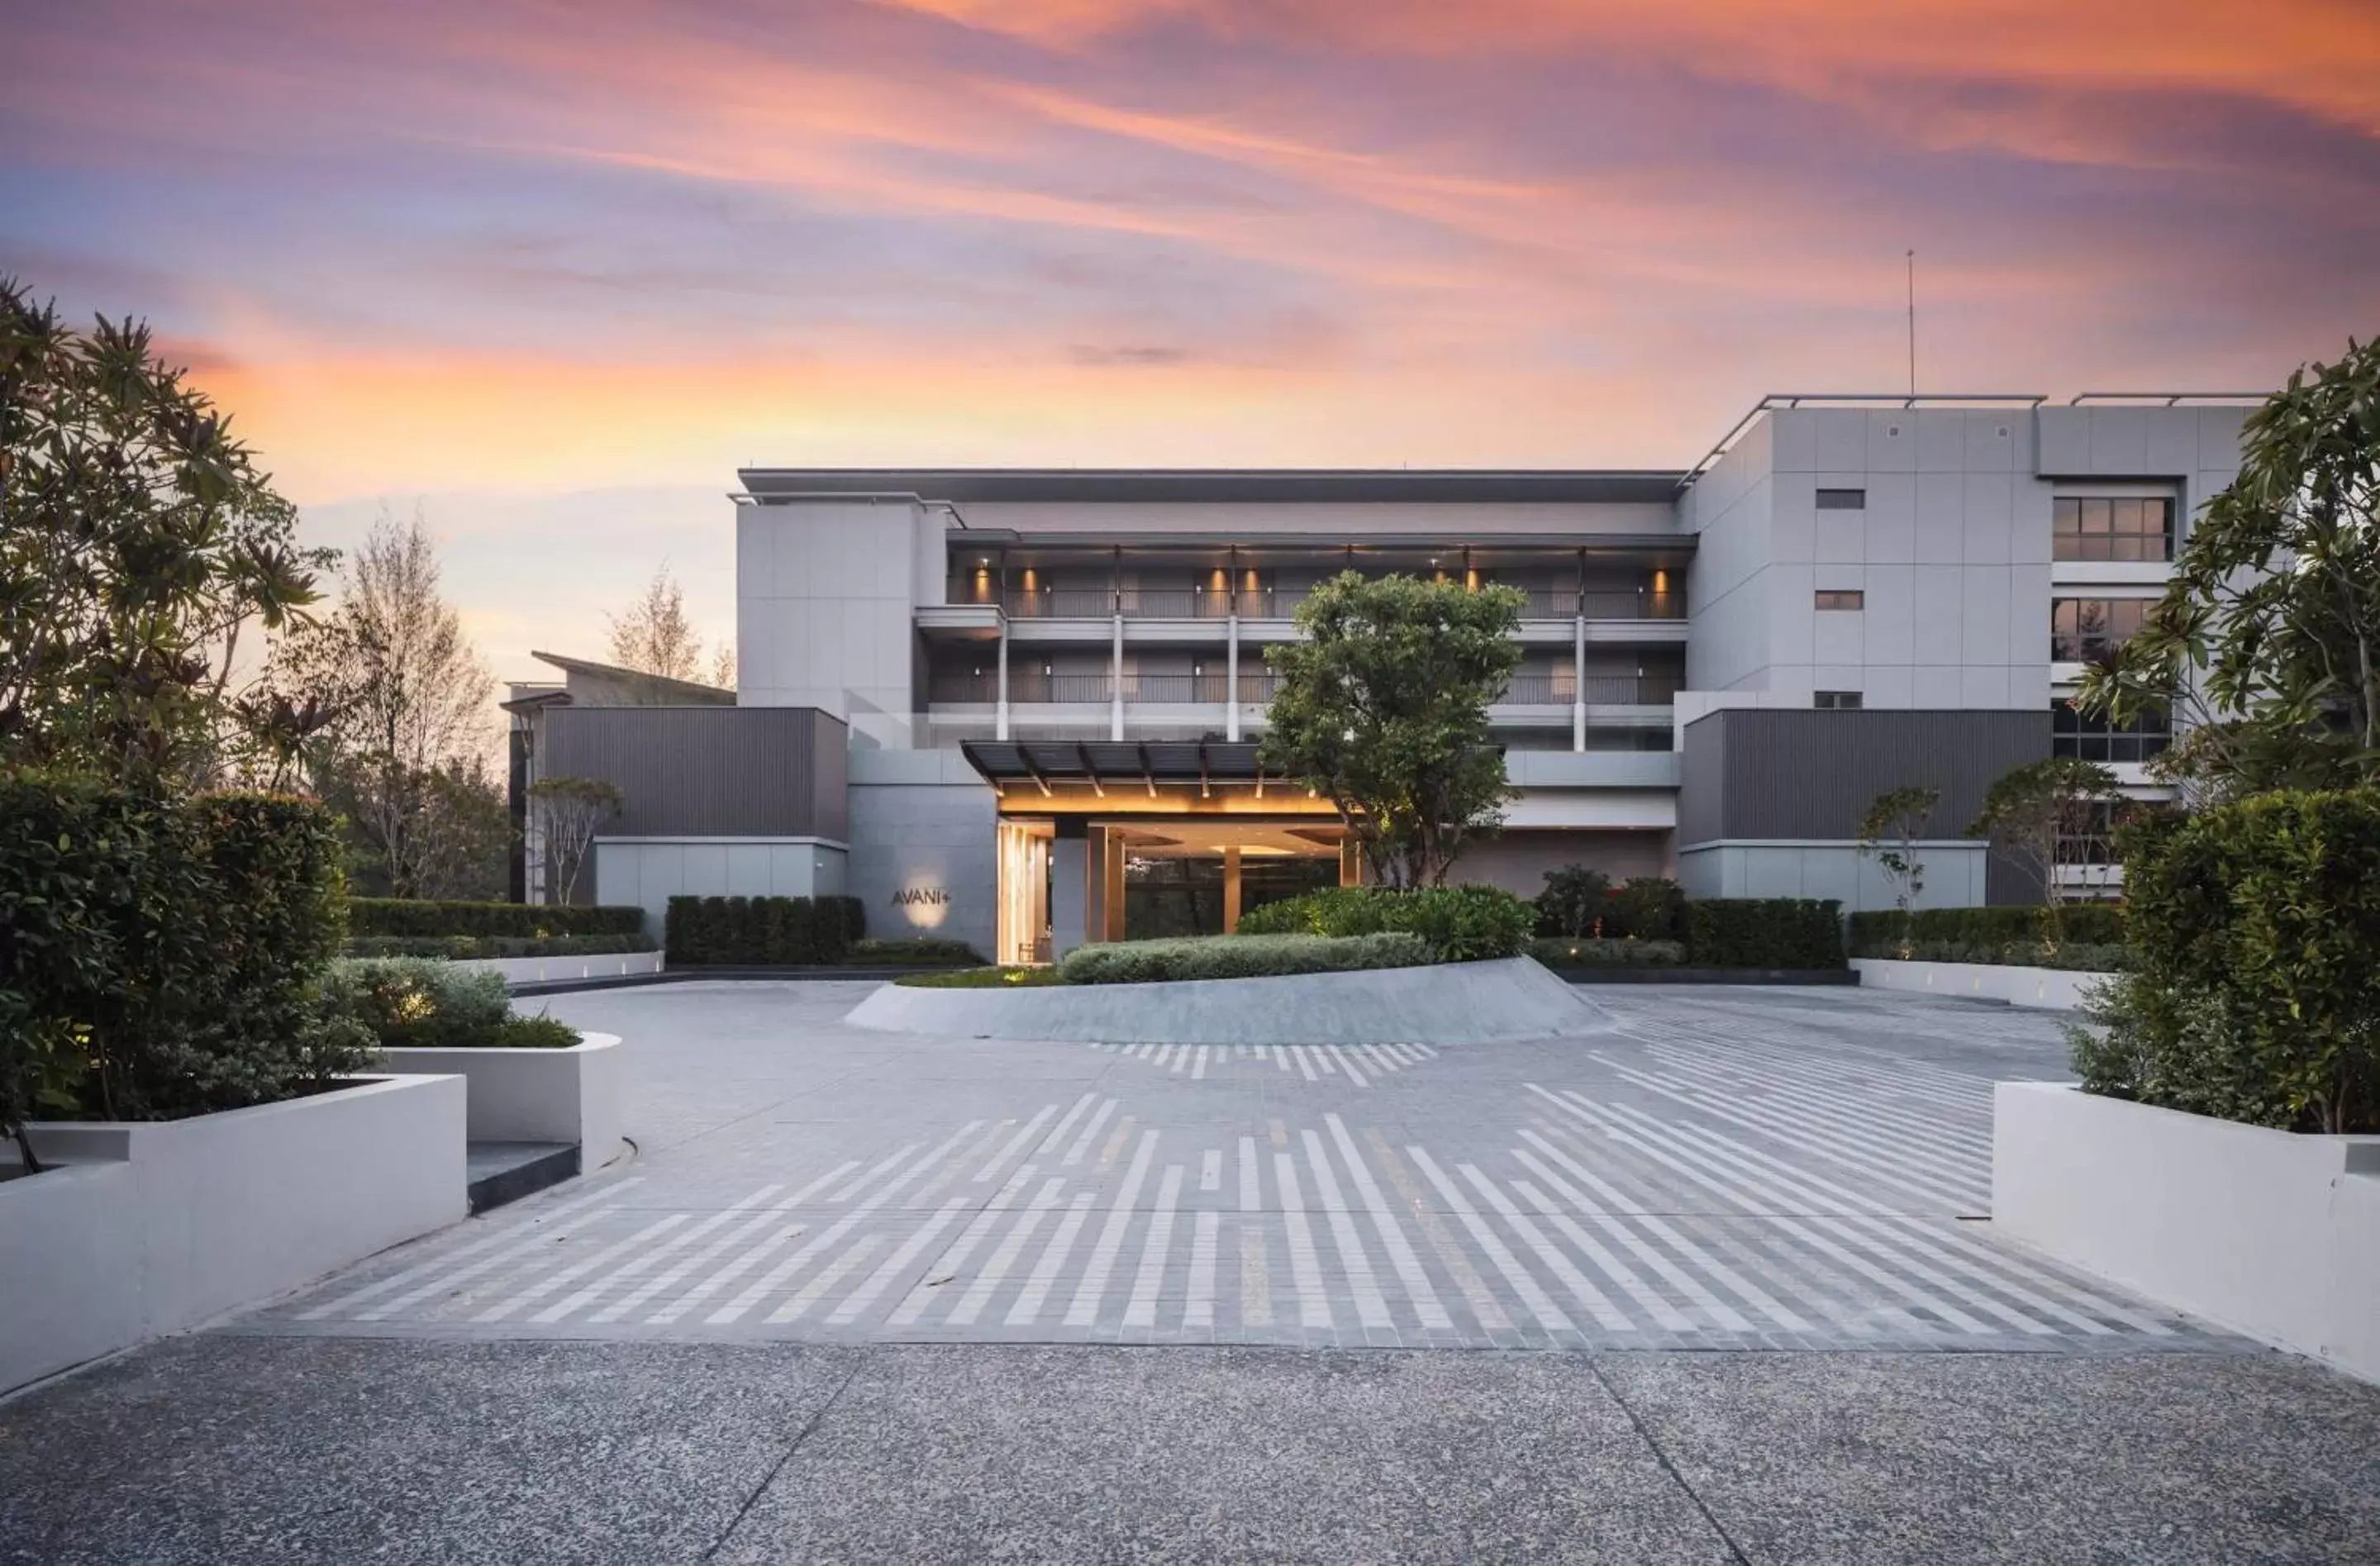
M 2380 1130 L 2380 790 L 2271 793 L 2121 833 L 2130 973 L 2068 1028 L 2090 1092 Z

